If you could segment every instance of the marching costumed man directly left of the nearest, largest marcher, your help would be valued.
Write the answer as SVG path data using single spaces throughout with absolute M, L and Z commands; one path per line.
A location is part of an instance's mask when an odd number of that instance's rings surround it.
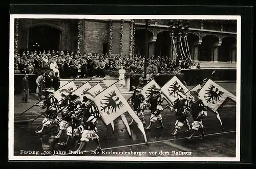
M 61 145 L 66 145 L 70 136 L 78 136 L 77 134 L 77 117 L 78 112 L 74 112 L 75 109 L 79 108 L 81 106 L 81 102 L 79 101 L 79 96 L 76 94 L 70 94 L 69 95 L 71 103 L 65 107 L 63 110 L 61 110 L 61 122 L 59 123 L 59 131 L 56 136 L 53 136 L 53 138 L 59 138 L 63 132 L 66 131 L 67 134 L 67 140 L 63 143 L 60 143 Z M 77 126 L 77 127 L 76 127 Z M 73 134 L 72 134 L 73 133 Z

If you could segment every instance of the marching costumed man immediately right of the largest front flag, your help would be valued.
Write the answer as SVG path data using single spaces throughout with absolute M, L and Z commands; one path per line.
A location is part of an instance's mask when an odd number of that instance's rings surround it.
M 135 89 L 134 94 L 131 98 L 130 104 L 133 105 L 135 113 L 138 115 L 141 122 L 145 125 L 146 122 L 143 114 L 143 111 L 145 109 L 145 104 L 144 104 L 145 98 L 144 98 L 144 95 L 141 93 L 141 91 L 142 91 L 142 87 L 138 87 L 137 89 Z M 132 123 L 133 123 L 133 119 L 129 125 L 131 126 Z

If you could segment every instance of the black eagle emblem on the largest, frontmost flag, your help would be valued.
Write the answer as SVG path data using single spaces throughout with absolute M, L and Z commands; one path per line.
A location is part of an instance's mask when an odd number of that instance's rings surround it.
M 124 107 L 124 104 L 120 101 L 119 97 L 117 96 L 115 91 L 111 91 L 109 93 L 109 96 L 104 95 L 104 97 L 106 99 L 102 99 L 102 101 L 106 101 L 105 103 L 100 102 L 100 104 L 102 106 L 100 106 L 101 111 L 103 111 L 104 113 L 111 114 L 113 113 L 113 111 L 118 109 L 121 109 L 122 107 Z

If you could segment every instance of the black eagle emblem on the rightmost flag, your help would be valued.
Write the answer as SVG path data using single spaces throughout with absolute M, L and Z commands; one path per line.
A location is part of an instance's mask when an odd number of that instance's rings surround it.
M 220 98 L 222 98 L 222 96 L 224 95 L 223 91 L 219 90 L 212 84 L 208 87 L 208 90 L 205 90 L 205 92 L 206 93 L 204 98 L 206 98 L 206 102 L 212 104 L 215 104 L 217 102 L 217 99 L 218 101 L 220 101 Z

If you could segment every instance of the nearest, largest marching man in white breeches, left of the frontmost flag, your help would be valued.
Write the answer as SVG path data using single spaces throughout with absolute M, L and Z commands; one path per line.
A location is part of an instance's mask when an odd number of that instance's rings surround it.
M 97 149 L 95 151 L 101 151 L 99 143 L 99 134 L 96 125 L 99 122 L 100 113 L 99 107 L 94 102 L 94 96 L 89 92 L 83 93 L 83 120 L 82 125 L 78 127 L 81 133 L 80 146 L 76 151 L 82 151 L 86 147 L 87 142 L 92 139 L 97 144 Z

